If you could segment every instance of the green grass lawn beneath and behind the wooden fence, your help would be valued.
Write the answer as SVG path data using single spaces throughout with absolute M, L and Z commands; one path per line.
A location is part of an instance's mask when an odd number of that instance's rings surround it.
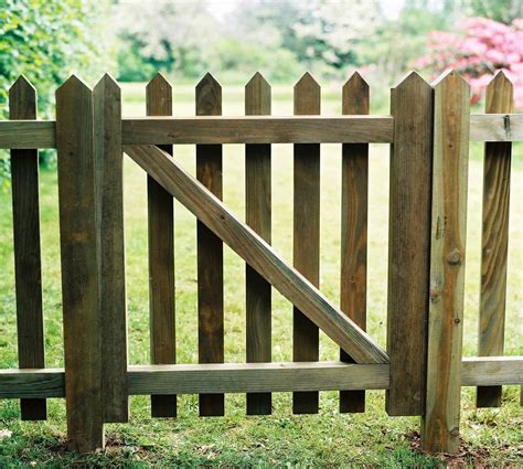
M 145 114 L 143 85 L 126 85 L 124 114 Z M 194 114 L 194 94 L 174 88 L 174 111 Z M 224 114 L 243 113 L 241 87 L 224 89 Z M 339 93 L 323 93 L 323 114 L 339 114 Z M 274 88 L 273 113 L 292 111 L 291 87 Z M 373 108 L 374 113 L 385 111 Z M 482 192 L 481 146 L 472 145 L 469 170 L 468 256 L 466 275 L 465 355 L 477 350 L 480 276 L 480 220 Z M 194 148 L 178 147 L 175 156 L 194 173 Z M 340 271 L 340 146 L 322 146 L 321 184 L 321 290 L 338 302 Z M 273 244 L 291 260 L 292 150 L 273 150 Z M 224 148 L 224 201 L 244 215 L 244 148 Z M 509 288 L 506 297 L 506 354 L 523 354 L 523 151 L 514 146 L 511 194 Z M 129 361 L 149 363 L 146 174 L 132 161 L 125 163 L 125 221 Z M 0 194 L 0 367 L 17 366 L 14 273 L 11 194 Z M 43 290 L 47 366 L 63 365 L 60 243 L 56 172 L 41 175 Z M 388 220 L 388 146 L 371 146 L 369 226 L 369 331 L 385 347 Z M 177 340 L 180 363 L 195 363 L 196 255 L 195 221 L 175 203 Z M 245 361 L 245 265 L 225 247 L 225 360 Z M 273 360 L 291 359 L 291 306 L 274 291 Z M 337 360 L 338 348 L 324 334 L 320 359 Z M 474 390 L 463 388 L 461 433 L 463 447 L 455 461 L 492 466 L 523 465 L 523 415 L 520 390 L 506 386 L 503 406 L 476 409 Z M 131 418 L 126 425 L 107 425 L 107 449 L 82 456 L 64 451 L 63 399 L 50 399 L 46 423 L 21 423 L 15 401 L 0 402 L 0 467 L 28 465 L 159 466 L 439 466 L 441 459 L 417 450 L 418 418 L 387 417 L 384 392 L 367 392 L 367 411 L 340 415 L 338 393 L 320 393 L 320 414 L 293 416 L 289 393 L 275 394 L 274 414 L 245 416 L 245 395 L 226 396 L 226 416 L 200 418 L 198 396 L 179 397 L 177 419 L 151 419 L 147 397 L 131 397 Z M 452 460 L 447 460 L 451 462 Z

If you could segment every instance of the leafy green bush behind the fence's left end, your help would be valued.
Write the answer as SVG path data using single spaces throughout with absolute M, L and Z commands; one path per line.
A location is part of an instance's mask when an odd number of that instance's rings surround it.
M 8 90 L 20 74 L 39 93 L 39 116 L 50 117 L 54 92 L 72 73 L 97 78 L 110 63 L 105 0 L 1 0 L 0 117 L 7 118 Z M 109 45 L 108 45 L 109 44 Z M 43 153 L 51 154 L 50 152 Z M 0 182 L 9 175 L 0 156 Z

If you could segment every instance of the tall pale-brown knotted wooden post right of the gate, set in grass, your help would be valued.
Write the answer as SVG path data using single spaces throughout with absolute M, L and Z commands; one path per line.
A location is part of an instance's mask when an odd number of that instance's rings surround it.
M 459 448 L 470 89 L 455 72 L 444 74 L 433 86 L 430 305 L 421 439 L 428 451 L 455 454 Z

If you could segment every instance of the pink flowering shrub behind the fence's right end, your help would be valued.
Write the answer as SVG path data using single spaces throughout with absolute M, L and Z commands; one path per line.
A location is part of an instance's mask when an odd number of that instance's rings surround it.
M 514 104 L 523 108 L 523 19 L 502 24 L 487 18 L 470 18 L 463 34 L 434 31 L 428 53 L 416 66 L 436 71 L 455 68 L 471 87 L 471 102 L 479 103 L 487 85 L 502 70 L 514 85 Z

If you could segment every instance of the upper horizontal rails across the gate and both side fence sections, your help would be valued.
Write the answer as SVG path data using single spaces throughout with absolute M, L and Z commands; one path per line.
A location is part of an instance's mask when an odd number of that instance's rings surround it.
M 392 143 L 392 116 L 198 116 L 124 118 L 124 145 Z M 523 115 L 472 114 L 471 141 L 523 140 Z M 56 148 L 54 120 L 0 121 L 0 148 Z

